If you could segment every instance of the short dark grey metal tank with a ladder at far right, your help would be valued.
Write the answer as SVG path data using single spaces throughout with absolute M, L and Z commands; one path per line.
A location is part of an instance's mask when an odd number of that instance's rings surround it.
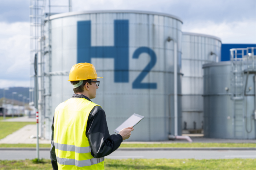
M 255 139 L 255 59 L 247 52 L 203 65 L 205 137 Z

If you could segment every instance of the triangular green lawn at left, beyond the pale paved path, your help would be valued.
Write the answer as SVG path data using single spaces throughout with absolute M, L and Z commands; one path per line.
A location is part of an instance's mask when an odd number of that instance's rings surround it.
M 7 135 L 19 130 L 25 125 L 36 124 L 36 122 L 3 122 L 0 121 L 0 139 L 3 139 Z

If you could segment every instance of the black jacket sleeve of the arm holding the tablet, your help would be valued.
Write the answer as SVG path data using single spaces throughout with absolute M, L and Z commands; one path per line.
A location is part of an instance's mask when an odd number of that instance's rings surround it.
M 120 147 L 122 142 L 121 135 L 109 135 L 106 114 L 100 106 L 95 106 L 88 117 L 86 136 L 91 147 L 91 154 L 95 158 L 111 154 Z

